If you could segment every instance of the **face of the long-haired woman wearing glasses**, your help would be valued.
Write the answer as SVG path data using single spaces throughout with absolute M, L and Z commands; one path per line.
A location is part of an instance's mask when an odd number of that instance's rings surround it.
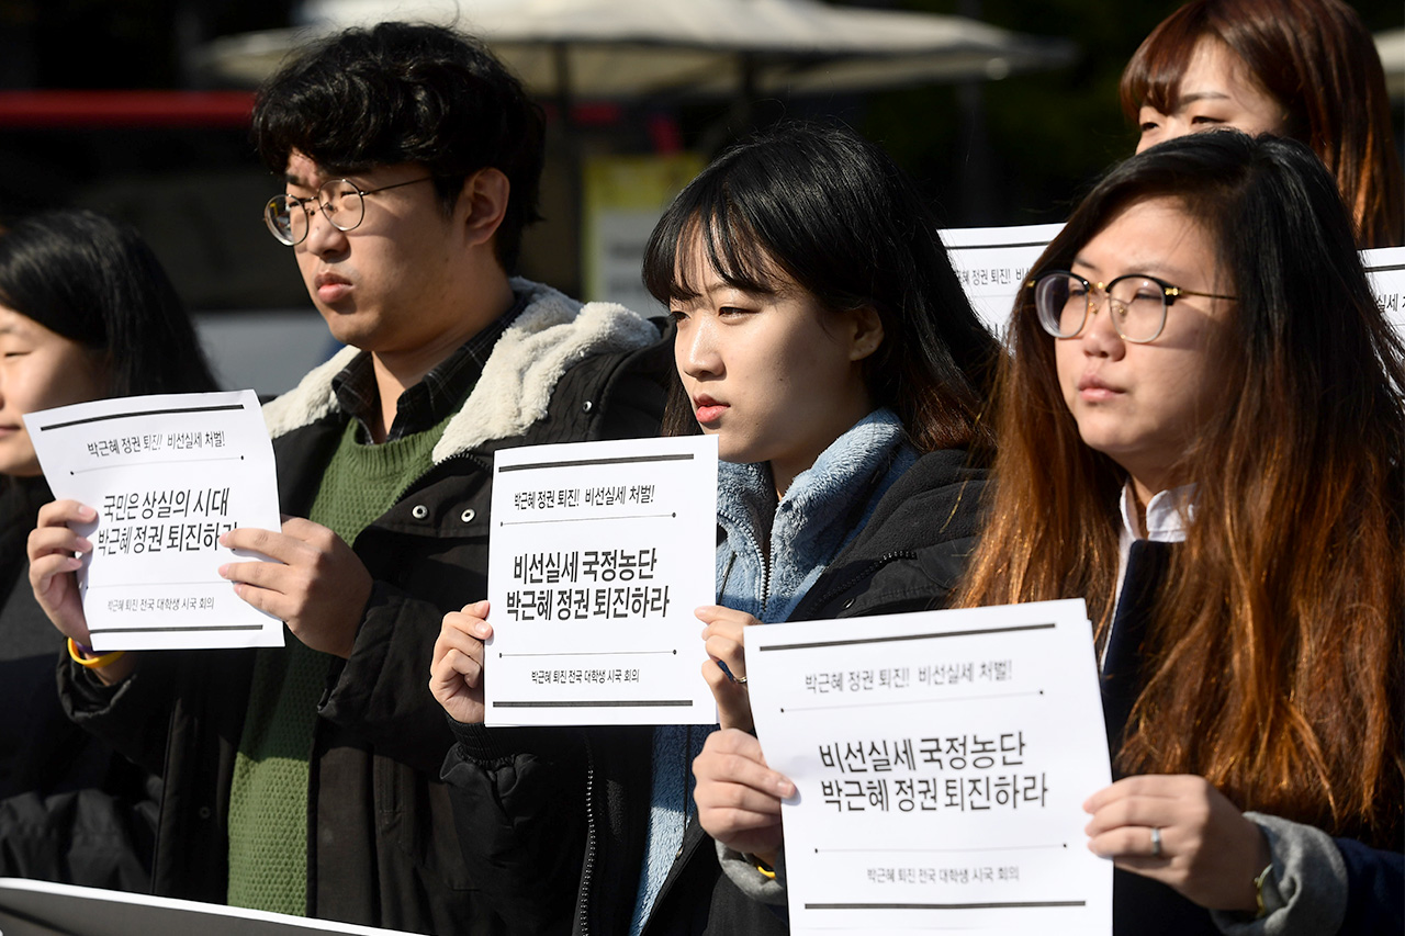
M 1173 285 L 1235 295 L 1220 274 L 1208 233 L 1179 202 L 1135 204 L 1092 238 L 1072 264 L 1092 282 L 1149 274 Z M 1149 344 L 1123 340 L 1106 299 L 1071 339 L 1050 339 L 1064 402 L 1083 441 L 1127 469 L 1145 503 L 1186 483 L 1170 476 L 1214 408 L 1224 405 L 1218 354 L 1232 301 L 1179 297 Z

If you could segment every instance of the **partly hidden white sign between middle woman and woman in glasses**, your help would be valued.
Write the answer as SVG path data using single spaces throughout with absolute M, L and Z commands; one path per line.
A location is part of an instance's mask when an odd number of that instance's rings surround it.
M 947 228 L 941 232 L 941 242 L 971 299 L 971 308 L 993 334 L 1005 336 L 1014 298 L 1030 267 L 1062 229 L 1064 225 L 1057 223 Z

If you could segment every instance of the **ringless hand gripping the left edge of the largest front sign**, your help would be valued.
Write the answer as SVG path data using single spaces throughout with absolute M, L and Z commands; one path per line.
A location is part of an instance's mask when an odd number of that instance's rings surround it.
M 766 766 L 762 742 L 738 728 L 708 735 L 693 760 L 698 824 L 732 849 L 774 864 L 781 847 L 781 800 L 795 784 Z

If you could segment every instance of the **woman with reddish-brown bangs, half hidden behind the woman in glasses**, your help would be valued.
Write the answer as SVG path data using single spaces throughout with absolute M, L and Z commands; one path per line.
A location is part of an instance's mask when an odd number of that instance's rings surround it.
M 1137 152 L 1217 126 L 1307 143 L 1336 177 L 1359 247 L 1405 243 L 1405 184 L 1385 73 L 1342 0 L 1196 0 L 1123 72 Z

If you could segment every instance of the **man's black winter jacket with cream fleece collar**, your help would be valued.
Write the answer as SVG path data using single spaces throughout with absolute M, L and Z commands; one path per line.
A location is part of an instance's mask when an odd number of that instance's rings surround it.
M 531 302 L 450 420 L 434 467 L 353 544 L 374 578 L 350 659 L 319 704 L 309 763 L 308 914 L 417 933 L 511 933 L 462 862 L 438 767 L 452 735 L 427 687 L 447 611 L 486 593 L 493 453 L 652 436 L 672 347 L 615 305 Z M 348 416 L 330 392 L 343 353 L 264 409 L 280 499 L 305 516 Z M 69 668 L 72 714 L 162 767 L 159 894 L 223 902 L 228 810 L 253 651 L 152 654 L 105 689 Z

